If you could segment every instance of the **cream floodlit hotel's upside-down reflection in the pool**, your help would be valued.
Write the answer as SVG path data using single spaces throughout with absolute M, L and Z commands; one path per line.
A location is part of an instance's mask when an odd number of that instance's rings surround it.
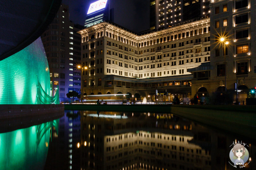
M 211 168 L 210 152 L 189 142 L 191 121 L 171 114 L 105 114 L 108 118 L 101 119 L 83 112 L 82 169 Z

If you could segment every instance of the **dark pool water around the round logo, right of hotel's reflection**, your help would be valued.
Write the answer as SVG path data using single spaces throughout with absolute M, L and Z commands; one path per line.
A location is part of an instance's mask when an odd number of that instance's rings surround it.
M 191 141 L 189 141 L 189 143 L 196 144 L 205 151 L 210 152 L 212 162 L 211 169 L 233 169 L 233 166 L 229 164 L 229 162 L 231 162 L 229 159 L 229 152 L 233 148 L 231 145 L 236 139 L 237 141 L 242 140 L 248 145 L 248 147 L 245 147 L 249 151 L 249 157 L 255 158 L 256 156 L 255 142 L 250 140 L 250 138 L 244 137 L 243 134 L 230 134 L 229 132 L 225 132 L 223 130 L 207 128 L 193 122 L 191 131 L 194 134 L 194 137 Z M 256 162 L 251 161 L 246 166 L 246 169 L 254 170 L 255 167 Z

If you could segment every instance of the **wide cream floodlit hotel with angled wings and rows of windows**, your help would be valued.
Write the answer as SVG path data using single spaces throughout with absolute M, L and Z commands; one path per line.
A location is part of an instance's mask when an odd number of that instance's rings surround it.
M 143 35 L 108 22 L 78 33 L 87 67 L 81 76 L 85 95 L 138 93 L 153 99 L 157 90 L 159 100 L 187 100 L 191 72 L 210 76 L 210 18 Z

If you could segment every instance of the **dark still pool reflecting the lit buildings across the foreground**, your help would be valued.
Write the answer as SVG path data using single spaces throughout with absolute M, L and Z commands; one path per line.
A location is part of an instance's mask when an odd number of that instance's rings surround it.
M 1 133 L 0 169 L 256 169 L 255 151 L 248 137 L 173 114 L 66 110 Z

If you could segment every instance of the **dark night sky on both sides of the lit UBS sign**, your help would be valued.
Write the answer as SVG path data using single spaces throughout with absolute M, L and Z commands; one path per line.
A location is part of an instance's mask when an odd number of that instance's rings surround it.
M 69 6 L 70 20 L 84 26 L 91 3 L 97 0 L 62 0 Z M 114 8 L 114 22 L 136 33 L 149 29 L 149 0 L 108 0 Z

